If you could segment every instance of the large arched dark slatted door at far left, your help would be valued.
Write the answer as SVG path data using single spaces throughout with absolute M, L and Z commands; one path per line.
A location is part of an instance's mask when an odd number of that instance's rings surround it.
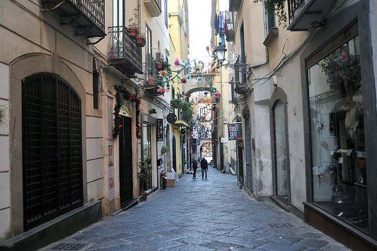
M 60 77 L 22 85 L 25 230 L 82 206 L 81 100 Z

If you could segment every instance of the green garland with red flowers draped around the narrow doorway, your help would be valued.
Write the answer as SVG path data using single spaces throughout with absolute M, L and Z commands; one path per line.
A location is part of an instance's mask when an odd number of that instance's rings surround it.
M 112 136 L 117 138 L 118 134 L 121 132 L 123 125 L 122 125 L 122 118 L 119 115 L 122 106 L 122 99 L 130 100 L 135 102 L 136 104 L 136 137 L 141 139 L 141 122 L 140 122 L 140 105 L 141 105 L 141 97 L 136 95 L 135 93 L 130 93 L 126 88 L 121 86 L 121 84 L 114 85 L 115 93 L 115 101 L 116 104 L 114 106 L 114 128 L 112 128 Z

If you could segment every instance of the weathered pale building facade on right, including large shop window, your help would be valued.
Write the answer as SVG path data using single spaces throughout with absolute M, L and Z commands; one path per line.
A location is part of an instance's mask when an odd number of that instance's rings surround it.
M 262 1 L 230 1 L 228 51 L 247 56 L 248 68 L 235 83 L 239 182 L 345 245 L 374 250 L 376 6 L 285 3 L 287 21 Z

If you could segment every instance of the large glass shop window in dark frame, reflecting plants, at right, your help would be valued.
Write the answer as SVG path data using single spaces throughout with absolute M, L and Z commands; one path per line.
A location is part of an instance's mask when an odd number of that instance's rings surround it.
M 335 48 L 334 48 L 335 49 Z M 313 202 L 368 231 L 358 36 L 308 68 Z

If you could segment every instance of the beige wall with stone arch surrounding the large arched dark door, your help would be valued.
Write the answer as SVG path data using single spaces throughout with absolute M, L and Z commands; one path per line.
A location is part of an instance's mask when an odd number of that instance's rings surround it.
M 17 18 L 19 16 L 22 16 L 22 19 Z M 0 34 L 3 35 L 1 44 L 3 48 L 6 48 L 0 50 L 2 90 L 0 104 L 5 104 L 10 108 L 9 126 L 0 128 L 1 238 L 10 230 L 11 224 L 13 235 L 23 232 L 23 192 L 22 182 L 20 182 L 22 180 L 21 81 L 28 75 L 40 72 L 56 73 L 71 84 L 80 96 L 82 100 L 84 203 L 88 199 L 96 200 L 103 195 L 102 184 L 93 182 L 101 178 L 102 163 L 99 161 L 102 156 L 101 135 L 98 133 L 98 128 L 97 132 L 93 132 L 92 119 L 86 119 L 86 115 L 97 117 L 95 126 L 101 127 L 101 122 L 98 122 L 101 121 L 101 112 L 93 109 L 91 73 L 93 53 L 86 45 L 86 38 L 74 36 L 70 25 L 60 25 L 56 16 L 42 12 L 37 5 L 27 1 L 19 4 L 1 1 L 0 23 Z M 11 90 L 9 86 L 12 86 Z M 86 125 L 90 127 L 88 135 Z M 93 140 L 93 135 L 97 141 Z M 86 139 L 87 136 L 88 139 Z M 86 150 L 87 143 L 88 150 Z M 88 167 L 90 167 L 88 170 L 86 169 L 87 153 L 88 155 L 96 154 L 88 160 Z M 94 158 L 97 160 L 93 160 Z M 9 173 L 10 169 L 12 169 L 11 173 Z M 87 179 L 92 182 L 90 185 L 86 184 Z

